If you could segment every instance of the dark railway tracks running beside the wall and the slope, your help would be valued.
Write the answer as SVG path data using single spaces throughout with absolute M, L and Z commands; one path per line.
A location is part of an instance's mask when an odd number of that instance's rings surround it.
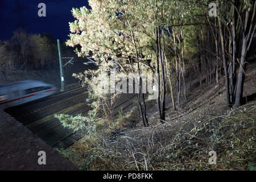
M 23 123 L 39 138 L 46 141 L 50 146 L 57 148 L 67 148 L 76 140 L 86 134 L 86 131 L 74 132 L 63 127 L 55 114 L 86 115 L 92 107 L 86 102 L 86 88 L 75 88 L 65 92 L 57 93 L 53 96 L 29 102 L 16 107 L 6 109 L 6 112 L 13 115 L 16 120 Z M 131 106 L 131 101 L 135 95 L 122 98 L 118 101 L 113 110 L 113 116 L 117 115 L 120 108 L 125 110 Z M 98 115 L 102 117 L 102 114 Z

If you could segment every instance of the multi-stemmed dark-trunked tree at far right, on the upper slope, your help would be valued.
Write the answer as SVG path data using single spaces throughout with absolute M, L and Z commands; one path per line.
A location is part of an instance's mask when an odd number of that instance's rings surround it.
M 246 56 L 256 29 L 256 2 L 250 0 L 217 1 L 217 5 L 219 9 L 218 26 L 221 38 L 222 61 L 225 71 L 226 104 L 238 107 L 241 105 L 242 100 Z M 224 26 L 227 28 L 229 35 L 223 33 L 222 28 Z M 226 51 L 224 46 L 224 36 L 229 37 L 229 51 Z M 241 45 L 241 49 L 237 47 L 238 45 Z M 230 55 L 228 56 L 230 69 L 226 61 L 226 53 Z M 240 57 L 240 59 L 237 59 L 237 57 Z M 236 64 L 239 65 L 238 75 L 236 75 Z

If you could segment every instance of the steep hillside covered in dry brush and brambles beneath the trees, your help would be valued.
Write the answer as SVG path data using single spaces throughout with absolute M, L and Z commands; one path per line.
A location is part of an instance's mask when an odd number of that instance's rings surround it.
M 224 78 L 220 85 L 202 85 L 189 94 L 183 109 L 168 102 L 166 122 L 158 121 L 156 106 L 148 108 L 150 127 L 143 127 L 134 109 L 116 119 L 111 130 L 86 135 L 74 146 L 61 150 L 80 169 L 86 170 L 248 170 L 255 169 L 255 64 L 247 69 L 244 105 L 232 110 L 225 105 Z M 209 164 L 209 152 L 217 164 Z

